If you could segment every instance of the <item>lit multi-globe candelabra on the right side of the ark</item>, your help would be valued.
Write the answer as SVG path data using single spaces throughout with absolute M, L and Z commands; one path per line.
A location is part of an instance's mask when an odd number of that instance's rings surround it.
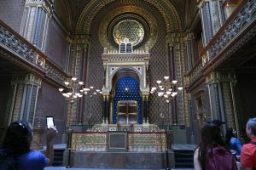
M 163 97 L 168 105 L 168 115 L 170 116 L 169 104 L 171 100 L 175 98 L 177 93 L 183 90 L 182 86 L 177 86 L 177 80 L 170 80 L 169 77 L 164 77 L 164 81 L 156 81 L 157 87 L 152 87 L 150 90 L 150 94 L 154 94 L 155 92 L 159 97 Z M 173 121 L 173 117 L 172 117 Z

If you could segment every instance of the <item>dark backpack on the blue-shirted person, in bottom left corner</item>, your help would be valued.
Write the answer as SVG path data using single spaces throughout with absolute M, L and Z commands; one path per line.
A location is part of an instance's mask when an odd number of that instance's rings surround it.
M 0 170 L 15 170 L 15 159 L 7 150 L 0 150 Z

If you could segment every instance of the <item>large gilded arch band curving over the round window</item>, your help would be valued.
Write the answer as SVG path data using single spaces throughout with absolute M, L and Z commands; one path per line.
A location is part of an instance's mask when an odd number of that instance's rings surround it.
M 127 1 L 127 2 L 131 3 L 132 1 Z M 135 1 L 135 2 L 138 2 L 138 1 Z M 167 32 L 181 31 L 180 16 L 177 13 L 177 9 L 169 0 L 161 0 L 161 1 L 145 0 L 145 2 L 148 2 L 149 4 L 153 5 L 155 8 L 157 8 L 160 11 L 160 14 L 165 20 Z M 90 35 L 93 19 L 96 17 L 96 14 L 98 14 L 99 11 L 105 6 L 107 6 L 109 3 L 119 3 L 119 2 L 114 0 L 90 1 L 90 3 L 88 3 L 84 7 L 84 9 L 82 10 L 79 16 L 79 20 L 76 26 L 76 32 Z

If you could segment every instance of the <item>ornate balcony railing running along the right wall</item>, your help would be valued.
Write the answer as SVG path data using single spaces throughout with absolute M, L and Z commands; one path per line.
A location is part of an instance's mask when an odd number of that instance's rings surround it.
M 253 28 L 255 20 L 256 0 L 242 1 L 200 54 L 201 59 L 189 71 L 187 76 L 188 84 L 191 85 L 201 77 L 204 68 L 207 67 L 207 63 L 211 63 L 212 59 L 216 59 L 224 49 L 229 48 L 231 42 L 239 40 L 241 32 L 246 31 L 250 26 Z

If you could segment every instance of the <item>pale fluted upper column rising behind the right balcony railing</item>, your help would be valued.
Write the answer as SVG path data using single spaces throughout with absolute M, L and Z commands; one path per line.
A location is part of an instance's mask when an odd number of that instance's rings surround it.
M 201 23 L 203 31 L 203 44 L 207 46 L 213 35 L 224 24 L 222 0 L 200 0 Z

